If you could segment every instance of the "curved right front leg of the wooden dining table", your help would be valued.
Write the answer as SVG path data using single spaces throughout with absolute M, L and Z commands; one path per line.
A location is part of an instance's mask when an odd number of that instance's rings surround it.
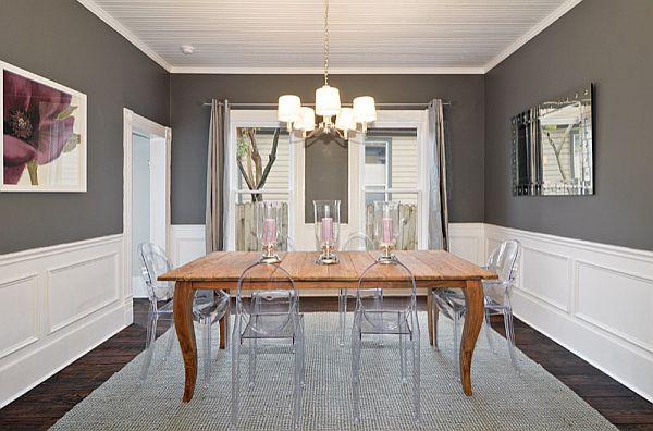
M 465 395 L 471 395 L 471 357 L 483 322 L 483 284 L 480 280 L 468 280 L 465 292 L 465 327 L 460 342 L 460 382 Z

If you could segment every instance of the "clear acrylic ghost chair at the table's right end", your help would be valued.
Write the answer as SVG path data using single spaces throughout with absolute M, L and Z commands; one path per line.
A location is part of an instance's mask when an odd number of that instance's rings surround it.
M 506 328 L 506 340 L 508 353 L 513 366 L 517 367 L 515 356 L 515 330 L 513 328 L 513 307 L 510 295 L 517 275 L 517 261 L 521 250 L 521 244 L 516 239 L 504 241 L 490 255 L 486 270 L 498 275 L 497 280 L 483 280 L 483 296 L 485 306 L 485 335 L 488 344 L 494 352 L 492 342 L 492 327 L 490 313 L 500 312 L 504 317 Z M 454 322 L 454 366 L 456 372 L 460 373 L 458 364 L 458 336 L 460 319 L 465 316 L 465 296 L 459 288 L 435 288 L 433 290 L 433 344 L 438 347 L 438 318 L 442 312 Z

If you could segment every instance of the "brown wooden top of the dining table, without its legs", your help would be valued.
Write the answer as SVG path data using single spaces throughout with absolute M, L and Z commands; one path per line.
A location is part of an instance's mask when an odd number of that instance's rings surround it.
M 378 251 L 341 251 L 337 264 L 318 264 L 317 251 L 280 253 L 279 267 L 298 288 L 355 287 Z M 465 287 L 468 280 L 496 279 L 467 260 L 442 250 L 397 251 L 397 259 L 414 274 L 417 287 Z M 190 282 L 194 288 L 233 288 L 238 278 L 260 257 L 258 251 L 217 251 L 159 276 L 160 281 Z M 281 272 L 281 271 L 280 271 Z M 274 279 L 274 271 L 268 274 Z M 389 278 L 392 274 L 389 272 Z

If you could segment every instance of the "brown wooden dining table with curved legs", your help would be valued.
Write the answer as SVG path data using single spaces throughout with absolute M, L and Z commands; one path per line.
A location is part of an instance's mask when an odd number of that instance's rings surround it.
M 356 290 L 360 275 L 377 259 L 373 251 L 341 251 L 337 264 L 318 264 L 318 253 L 280 253 L 281 262 L 298 290 Z M 484 269 L 442 250 L 397 251 L 397 259 L 412 272 L 417 288 L 427 288 L 429 341 L 433 345 L 431 290 L 459 287 L 465 294 L 466 316 L 460 342 L 460 382 L 466 395 L 471 395 L 471 358 L 483 321 L 482 280 L 496 279 Z M 174 324 L 185 368 L 184 402 L 189 402 L 197 379 L 197 345 L 193 328 L 193 299 L 197 290 L 234 291 L 238 278 L 260 258 L 257 251 L 217 251 L 159 276 L 176 282 L 174 287 Z M 384 287 L 392 287 L 386 280 Z

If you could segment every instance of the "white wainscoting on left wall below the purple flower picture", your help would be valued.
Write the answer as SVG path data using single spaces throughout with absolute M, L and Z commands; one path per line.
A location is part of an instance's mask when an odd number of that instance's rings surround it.
M 0 256 L 0 408 L 126 324 L 122 234 Z

